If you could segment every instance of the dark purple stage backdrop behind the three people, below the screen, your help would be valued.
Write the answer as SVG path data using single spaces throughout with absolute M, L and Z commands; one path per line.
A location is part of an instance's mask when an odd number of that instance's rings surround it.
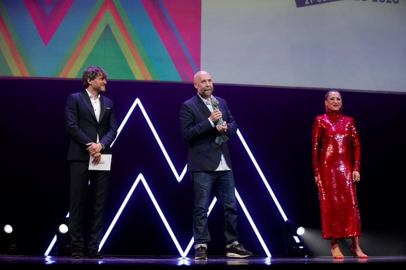
M 69 210 L 69 169 L 65 161 L 69 137 L 64 109 L 67 96 L 81 91 L 82 84 L 80 80 L 1 81 L 4 116 L 0 221 L 2 226 L 14 225 L 14 237 L 19 238 L 24 253 L 43 254 Z M 114 101 L 118 125 L 134 100 L 140 99 L 180 174 L 187 162 L 188 144 L 181 137 L 179 108 L 196 93 L 192 84 L 108 81 L 106 88 L 105 95 Z M 354 118 L 361 139 L 362 180 L 357 192 L 363 241 L 374 245 L 389 236 L 386 240 L 394 245 L 393 249 L 374 249 L 376 254 L 370 251 L 368 255 L 405 255 L 404 211 L 399 210 L 405 207 L 406 159 L 402 143 L 406 95 L 341 94 L 343 113 Z M 214 95 L 227 101 L 287 217 L 304 227 L 320 228 L 311 129 L 315 116 L 324 112 L 325 91 L 215 85 Z M 231 137 L 229 144 L 236 188 L 272 255 L 282 254 L 285 222 L 238 136 Z M 177 182 L 138 106 L 112 151 L 114 164 L 104 231 L 141 172 L 185 249 L 192 237 L 190 176 L 186 173 L 183 181 Z M 238 211 L 240 242 L 257 255 L 265 254 L 239 204 Z M 210 254 L 223 254 L 218 205 L 209 217 L 209 229 Z M 1 235 L 0 240 L 5 237 Z M 102 253 L 178 254 L 143 185 L 138 184 Z M 326 250 L 316 255 L 328 254 Z

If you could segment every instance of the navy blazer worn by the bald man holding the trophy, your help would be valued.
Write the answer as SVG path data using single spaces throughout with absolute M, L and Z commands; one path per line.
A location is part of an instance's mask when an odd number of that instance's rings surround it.
M 229 137 L 237 132 L 238 126 L 227 107 L 224 99 L 216 97 L 219 102 L 218 109 L 222 112 L 222 118 L 227 122 Z M 201 100 L 198 94 L 185 101 L 180 109 L 180 125 L 185 141 L 189 142 L 188 171 L 214 171 L 224 154 L 227 165 L 232 169 L 228 144 L 219 146 L 214 142 L 221 135 L 207 119 L 211 112 Z M 214 123 L 216 125 L 216 123 Z

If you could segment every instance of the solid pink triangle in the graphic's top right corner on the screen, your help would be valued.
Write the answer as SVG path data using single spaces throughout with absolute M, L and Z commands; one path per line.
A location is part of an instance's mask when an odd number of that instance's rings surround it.
M 200 69 L 201 0 L 162 0 L 190 56 Z

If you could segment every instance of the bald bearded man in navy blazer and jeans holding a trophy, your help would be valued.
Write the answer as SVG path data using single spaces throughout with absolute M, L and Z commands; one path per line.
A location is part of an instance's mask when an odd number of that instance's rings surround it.
M 207 244 L 210 242 L 207 229 L 210 191 L 213 190 L 221 206 L 225 226 L 226 255 L 248 257 L 247 251 L 238 243 L 237 205 L 234 178 L 227 142 L 219 141 L 219 135 L 237 132 L 237 124 L 224 99 L 214 97 L 212 77 L 206 71 L 194 75 L 196 96 L 185 101 L 180 110 L 182 135 L 189 142 L 188 171 L 193 186 L 193 237 L 195 259 L 207 259 Z M 215 101 L 215 99 L 217 101 Z M 218 109 L 215 104 L 218 103 Z M 218 122 L 218 120 L 224 120 Z M 224 138 L 224 136 L 222 136 Z

